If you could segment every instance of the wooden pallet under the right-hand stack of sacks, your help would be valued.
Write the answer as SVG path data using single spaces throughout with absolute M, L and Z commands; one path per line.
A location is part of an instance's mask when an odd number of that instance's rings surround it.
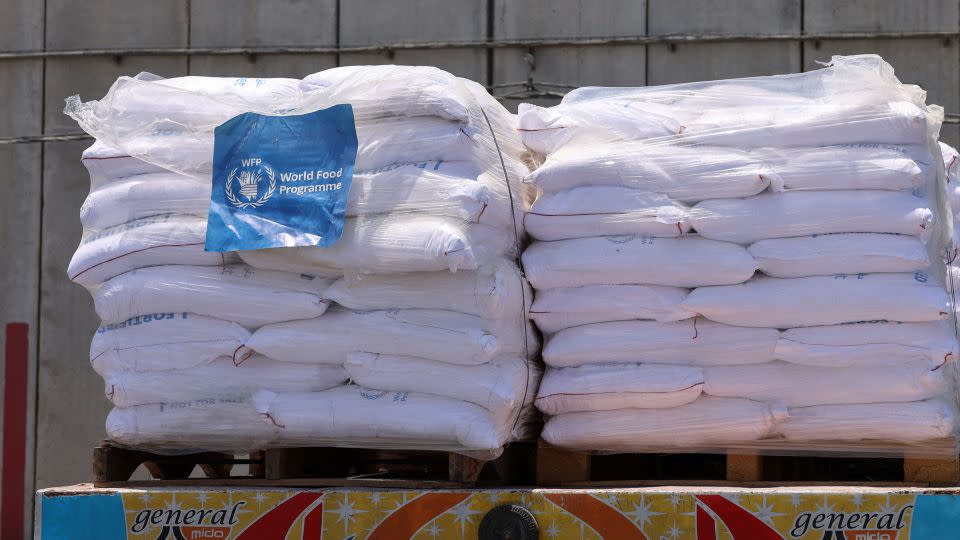
M 944 445 L 954 443 L 943 441 Z M 945 446 L 946 447 L 946 446 Z M 537 445 L 536 484 L 544 487 L 627 487 L 652 485 L 780 486 L 875 485 L 957 486 L 957 455 L 882 457 L 855 452 L 785 455 L 775 449 L 730 449 L 717 454 L 597 454 Z M 816 454 L 813 451 L 812 454 Z M 868 454 L 869 455 L 869 454 Z M 875 454 L 878 455 L 878 454 Z

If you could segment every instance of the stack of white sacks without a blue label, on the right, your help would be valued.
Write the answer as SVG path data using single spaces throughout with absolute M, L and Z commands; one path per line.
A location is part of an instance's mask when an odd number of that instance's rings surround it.
M 543 438 L 925 447 L 955 433 L 942 110 L 876 56 L 521 106 Z

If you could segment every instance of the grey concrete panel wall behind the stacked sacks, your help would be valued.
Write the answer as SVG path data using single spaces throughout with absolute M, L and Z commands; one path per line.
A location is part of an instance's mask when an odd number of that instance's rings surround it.
M 8 0 L 0 49 L 356 46 L 399 41 L 960 31 L 960 0 Z M 879 52 L 930 101 L 960 112 L 960 40 L 735 42 L 415 50 L 251 56 L 0 60 L 0 137 L 76 132 L 63 99 L 101 96 L 119 75 L 302 77 L 336 65 L 432 64 L 494 87 L 515 108 L 523 83 L 644 85 L 795 72 L 832 54 Z M 533 101 L 553 103 L 556 97 Z M 944 128 L 960 143 L 960 125 Z M 89 478 L 108 410 L 88 367 L 97 325 L 65 267 L 80 238 L 86 142 L 0 145 L 0 324 L 26 322 L 32 343 L 27 490 Z M 3 333 L 0 332 L 0 342 Z M 2 404 L 2 401 L 0 401 Z M 2 456 L 0 456 L 2 458 Z M 32 498 L 27 497 L 28 505 Z M 30 509 L 25 510 L 29 516 Z

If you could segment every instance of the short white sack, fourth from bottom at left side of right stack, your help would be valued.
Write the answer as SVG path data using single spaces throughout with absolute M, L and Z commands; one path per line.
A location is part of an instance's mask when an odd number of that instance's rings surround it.
M 598 322 L 685 318 L 677 310 L 690 289 L 661 285 L 584 285 L 538 290 L 530 318 L 541 332 L 553 334 Z

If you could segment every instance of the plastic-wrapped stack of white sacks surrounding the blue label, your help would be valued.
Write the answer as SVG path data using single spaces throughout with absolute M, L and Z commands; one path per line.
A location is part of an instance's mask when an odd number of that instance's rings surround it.
M 329 248 L 204 251 L 214 128 L 353 106 L 359 149 Z M 98 141 L 70 278 L 103 325 L 91 362 L 117 443 L 493 453 L 535 436 L 529 198 L 515 117 L 427 67 L 293 79 L 119 79 L 68 100 Z

